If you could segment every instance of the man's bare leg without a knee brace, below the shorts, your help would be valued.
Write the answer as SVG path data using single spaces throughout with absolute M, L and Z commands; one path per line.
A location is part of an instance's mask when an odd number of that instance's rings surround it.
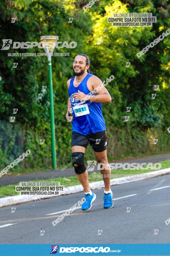
M 110 174 L 111 174 L 111 170 L 110 170 L 110 166 L 109 163 L 107 161 L 107 149 L 102 151 L 102 152 L 95 152 L 95 157 L 96 160 L 98 161 L 98 163 L 104 163 L 105 164 L 105 169 L 104 170 L 100 170 L 101 174 L 103 174 L 103 181 L 105 184 L 105 191 L 110 191 Z

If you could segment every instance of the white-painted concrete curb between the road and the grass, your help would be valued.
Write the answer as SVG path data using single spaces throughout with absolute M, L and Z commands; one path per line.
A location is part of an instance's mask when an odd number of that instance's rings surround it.
M 154 172 L 134 175 L 135 177 L 122 177 L 122 178 L 111 179 L 111 186 L 129 183 L 129 182 L 135 182 L 135 181 L 144 180 L 144 179 L 150 179 L 150 178 L 158 177 L 158 176 L 169 174 L 169 173 L 170 173 L 170 168 L 166 168 L 166 169 L 162 169 L 162 170 L 158 170 L 158 171 L 154 171 Z M 98 189 L 99 184 L 102 185 L 101 187 L 104 186 L 103 181 L 97 181 L 97 182 L 91 182 L 90 187 L 92 189 Z M 64 188 L 64 191 L 60 191 L 60 195 L 69 195 L 69 194 L 73 194 L 73 193 L 79 193 L 79 192 L 82 192 L 83 190 L 84 189 L 83 189 L 82 185 L 70 186 L 70 187 Z M 16 204 L 21 204 L 21 203 L 45 199 L 45 198 L 53 198 L 53 197 L 57 197 L 57 196 L 59 196 L 59 195 L 56 195 L 56 196 L 54 196 L 54 195 L 8 196 L 5 198 L 0 198 L 0 208 L 3 206 L 16 205 Z

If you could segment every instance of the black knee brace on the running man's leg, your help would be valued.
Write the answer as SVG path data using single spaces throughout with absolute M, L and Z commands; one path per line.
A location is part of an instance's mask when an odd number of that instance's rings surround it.
M 74 170 L 76 174 L 82 174 L 86 171 L 86 167 L 84 164 L 84 153 L 83 152 L 74 152 L 72 153 L 72 162 L 77 164 L 78 166 L 74 166 Z

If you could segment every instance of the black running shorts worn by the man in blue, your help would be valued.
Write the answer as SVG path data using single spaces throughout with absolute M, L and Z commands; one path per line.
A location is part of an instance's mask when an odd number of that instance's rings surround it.
M 82 146 L 86 148 L 89 142 L 95 152 L 102 152 L 106 150 L 107 148 L 106 130 L 90 133 L 88 135 L 83 135 L 76 131 L 72 131 L 72 142 L 71 142 L 72 147 Z

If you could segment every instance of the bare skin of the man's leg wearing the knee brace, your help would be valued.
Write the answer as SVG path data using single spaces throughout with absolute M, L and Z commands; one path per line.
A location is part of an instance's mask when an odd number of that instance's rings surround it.
M 75 153 L 75 152 L 85 153 L 85 150 L 86 150 L 86 148 L 82 147 L 82 146 L 73 146 L 72 147 L 72 153 Z M 75 167 L 78 166 L 75 163 L 73 163 L 73 164 L 74 164 Z M 87 170 L 82 174 L 76 174 L 76 175 L 77 175 L 77 178 L 80 181 L 81 185 L 83 186 L 85 193 L 89 192 L 90 191 L 90 186 L 89 186 L 89 181 L 88 181 L 88 172 L 87 172 Z

